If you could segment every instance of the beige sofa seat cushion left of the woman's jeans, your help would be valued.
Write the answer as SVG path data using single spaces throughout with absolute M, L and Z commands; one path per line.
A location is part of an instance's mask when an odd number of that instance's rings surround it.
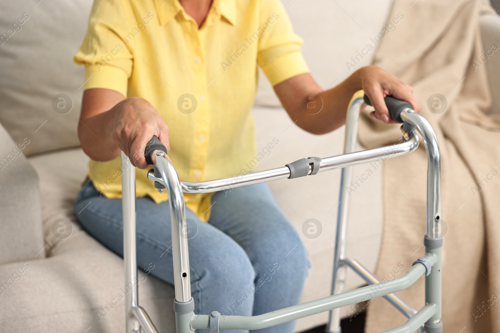
M 38 154 L 29 162 L 39 174 L 38 202 L 46 212 L 42 217 L 49 257 L 0 266 L 0 281 L 23 269 L 10 288 L 0 286 L 2 327 L 6 332 L 85 332 L 89 327 L 88 332 L 123 332 L 123 260 L 88 236 L 73 211 L 88 157 L 75 148 Z M 139 273 L 140 305 L 158 332 L 174 331 L 173 288 Z

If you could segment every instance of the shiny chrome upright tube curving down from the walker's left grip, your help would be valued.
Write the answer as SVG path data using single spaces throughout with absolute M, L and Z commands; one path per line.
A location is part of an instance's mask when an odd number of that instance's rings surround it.
M 175 300 L 180 303 L 191 300 L 191 283 L 189 278 L 189 255 L 187 250 L 186 212 L 184 195 L 180 187 L 179 177 L 165 153 L 159 150 L 156 154 L 155 166 L 168 194 L 170 206 L 170 229 L 172 234 L 172 259 Z

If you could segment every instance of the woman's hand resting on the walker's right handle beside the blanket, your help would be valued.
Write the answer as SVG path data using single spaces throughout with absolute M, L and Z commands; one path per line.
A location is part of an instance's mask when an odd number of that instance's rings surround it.
M 409 84 L 377 66 L 366 66 L 360 68 L 357 72 L 361 87 L 375 108 L 375 111 L 372 111 L 370 116 L 384 123 L 396 123 L 395 120 L 390 119 L 389 111 L 383 100 L 385 96 L 404 100 L 411 104 L 413 110 L 420 112 L 420 105 L 413 97 L 413 88 Z

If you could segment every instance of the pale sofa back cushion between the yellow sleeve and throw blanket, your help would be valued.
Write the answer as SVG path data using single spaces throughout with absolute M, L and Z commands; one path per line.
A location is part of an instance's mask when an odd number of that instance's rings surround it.
M 375 50 L 363 51 L 387 25 L 392 0 L 282 0 L 293 29 L 302 37 L 302 53 L 312 76 L 323 89 L 331 88 L 362 66 L 372 63 Z M 404 13 L 403 13 L 404 14 Z M 389 27 L 397 30 L 397 24 Z M 367 53 L 358 56 L 357 52 Z M 352 57 L 357 56 L 353 61 Z M 354 67 L 347 66 L 350 62 Z M 274 90 L 259 72 L 255 105 L 280 106 Z

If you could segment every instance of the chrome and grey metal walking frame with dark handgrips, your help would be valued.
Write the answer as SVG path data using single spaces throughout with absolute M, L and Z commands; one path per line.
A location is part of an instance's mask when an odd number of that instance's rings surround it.
M 203 182 L 180 181 L 175 168 L 166 157 L 166 149 L 156 137 L 149 141 L 145 157 L 154 164 L 154 170 L 148 173 L 148 179 L 162 192 L 166 188 L 170 207 L 170 226 L 172 236 L 172 257 L 174 272 L 175 300 L 173 310 L 177 333 L 192 333 L 195 329 L 207 329 L 210 333 L 219 330 L 257 330 L 285 322 L 297 320 L 321 312 L 329 311 L 327 333 L 340 333 L 339 308 L 355 303 L 367 302 L 383 296 L 408 321 L 401 327 L 385 333 L 440 333 L 441 322 L 441 166 L 439 147 L 436 136 L 429 123 L 420 114 L 412 110 L 411 105 L 385 97 L 385 103 L 391 117 L 402 122 L 402 141 L 390 146 L 354 151 L 357 136 L 357 123 L 360 107 L 369 99 L 362 90 L 356 92 L 349 104 L 343 154 L 326 158 L 308 158 L 287 164 L 284 167 L 265 171 L 251 172 L 239 176 L 215 179 Z M 427 152 L 427 209 L 426 233 L 423 240 L 425 255 L 416 260 L 412 267 L 401 277 L 380 282 L 354 259 L 344 256 L 345 229 L 349 196 L 347 184 L 352 179 L 352 166 L 388 158 L 402 156 L 414 151 L 419 144 L 418 132 Z M 341 168 L 340 194 L 336 242 L 333 263 L 332 295 L 285 309 L 276 310 L 258 316 L 224 316 L 217 311 L 210 315 L 194 314 L 194 301 L 191 298 L 189 279 L 189 258 L 186 235 L 186 216 L 183 193 L 208 193 L 234 187 L 267 182 L 282 178 L 296 178 L 314 175 L 317 172 Z M 135 248 L 135 168 L 129 159 L 121 153 L 122 209 L 123 209 L 123 259 L 125 263 L 125 286 L 130 289 L 125 297 L 126 332 L 157 333 L 145 310 L 138 305 L 137 299 L 137 264 Z M 369 285 L 347 292 L 342 292 L 347 267 L 351 268 Z M 425 274 L 425 306 L 416 311 L 394 293 L 410 287 Z

